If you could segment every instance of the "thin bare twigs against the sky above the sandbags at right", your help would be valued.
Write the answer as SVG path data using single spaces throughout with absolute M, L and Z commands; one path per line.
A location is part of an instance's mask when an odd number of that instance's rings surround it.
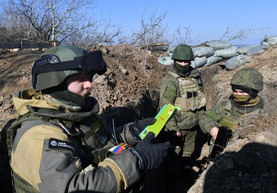
M 224 32 L 224 34 L 219 40 L 227 40 L 227 41 L 234 40 L 234 39 L 243 40 L 249 34 L 252 34 L 252 33 L 255 33 L 256 31 L 264 30 L 264 29 L 267 29 L 267 28 L 257 28 L 257 29 L 243 28 L 243 29 L 236 30 L 234 26 L 229 25 L 226 27 L 226 31 Z

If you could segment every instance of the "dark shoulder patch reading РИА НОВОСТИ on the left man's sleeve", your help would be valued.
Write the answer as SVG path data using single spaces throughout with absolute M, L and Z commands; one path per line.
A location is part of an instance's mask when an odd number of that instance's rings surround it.
M 48 148 L 53 150 L 67 151 L 73 153 L 73 155 L 76 155 L 76 146 L 68 141 L 61 141 L 55 138 L 50 138 Z

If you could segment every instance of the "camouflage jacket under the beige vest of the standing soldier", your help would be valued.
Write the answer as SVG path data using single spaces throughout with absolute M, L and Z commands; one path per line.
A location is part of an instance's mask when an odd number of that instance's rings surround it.
M 174 69 L 171 72 L 176 73 Z M 182 77 L 182 75 L 180 75 Z M 196 70 L 192 70 L 189 78 L 198 79 L 199 73 Z M 203 92 L 204 87 L 200 87 L 200 91 Z M 172 104 L 176 100 L 176 97 L 181 97 L 180 89 L 179 89 L 179 81 L 172 76 L 171 74 L 167 74 L 161 82 L 160 89 L 160 103 L 159 106 L 162 108 L 165 104 Z M 198 120 L 204 113 L 203 108 L 196 109 L 194 111 L 180 111 L 175 115 L 175 117 L 171 118 L 166 124 L 166 130 L 172 132 L 172 134 L 177 133 L 179 131 L 186 133 L 186 130 L 190 130 L 194 126 L 197 125 Z M 177 121 L 177 116 L 178 121 Z

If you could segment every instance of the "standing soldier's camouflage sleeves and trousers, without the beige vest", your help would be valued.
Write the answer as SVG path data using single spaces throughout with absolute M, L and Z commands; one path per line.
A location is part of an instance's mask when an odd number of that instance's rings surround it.
M 174 68 L 171 71 L 173 73 L 177 73 Z M 197 79 L 199 74 L 197 71 L 192 71 L 188 77 Z M 203 87 L 200 87 L 200 90 L 203 92 Z M 161 82 L 159 104 L 160 108 L 162 108 L 165 104 L 174 105 L 176 97 L 181 97 L 179 81 L 171 74 L 167 74 Z M 194 143 L 196 137 L 195 126 L 198 124 L 198 121 L 203 113 L 203 109 L 187 112 L 180 111 L 166 124 L 166 133 L 170 136 L 171 139 L 174 135 L 176 135 L 176 133 L 182 133 L 181 142 L 179 137 L 174 137 L 175 139 L 173 139 L 171 142 L 174 143 L 175 141 L 176 146 L 183 146 L 183 152 L 181 153 L 183 157 L 189 157 L 194 152 Z M 178 151 L 179 150 L 177 150 L 176 153 L 178 153 Z

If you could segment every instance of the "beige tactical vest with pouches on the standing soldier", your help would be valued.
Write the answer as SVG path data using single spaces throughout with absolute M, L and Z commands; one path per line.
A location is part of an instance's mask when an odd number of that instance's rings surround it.
M 181 97 L 177 97 L 174 105 L 181 107 L 182 111 L 193 111 L 206 105 L 204 93 L 200 91 L 195 79 L 189 77 L 180 77 L 176 73 L 168 72 L 179 81 L 179 90 Z

